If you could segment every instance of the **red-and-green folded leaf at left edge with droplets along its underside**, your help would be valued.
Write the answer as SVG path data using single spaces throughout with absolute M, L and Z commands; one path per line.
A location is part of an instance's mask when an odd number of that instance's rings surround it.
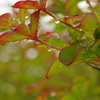
M 16 42 L 23 39 L 31 39 L 31 32 L 25 24 L 20 24 L 15 30 L 1 34 L 0 44 L 3 45 L 8 42 Z

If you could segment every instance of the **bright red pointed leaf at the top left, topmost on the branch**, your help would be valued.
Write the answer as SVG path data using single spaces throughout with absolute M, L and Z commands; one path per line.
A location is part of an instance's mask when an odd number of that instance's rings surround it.
M 18 1 L 12 7 L 20 9 L 40 9 L 41 5 L 38 1 Z

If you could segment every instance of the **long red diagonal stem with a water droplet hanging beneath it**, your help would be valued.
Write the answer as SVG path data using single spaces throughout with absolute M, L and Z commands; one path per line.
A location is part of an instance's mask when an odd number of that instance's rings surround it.
M 52 14 L 51 12 L 48 12 L 46 9 L 44 9 L 43 11 L 46 12 L 46 13 L 47 13 L 48 15 L 50 15 L 51 17 L 53 17 L 55 20 L 58 20 L 59 22 L 65 24 L 65 25 L 67 25 L 67 26 L 69 26 L 70 28 L 74 29 L 75 31 L 77 31 L 77 32 L 81 33 L 82 35 L 84 35 L 85 37 L 87 37 L 87 35 L 85 35 L 83 32 L 79 31 L 78 29 L 76 29 L 76 28 L 73 27 L 72 25 L 70 25 L 70 24 L 68 24 L 68 23 L 66 23 L 66 22 L 64 22 L 64 21 L 62 21 L 62 20 L 60 20 L 60 19 L 58 19 L 54 14 Z M 91 39 L 90 37 L 87 37 L 87 38 Z M 94 41 L 94 39 L 91 39 L 91 40 Z

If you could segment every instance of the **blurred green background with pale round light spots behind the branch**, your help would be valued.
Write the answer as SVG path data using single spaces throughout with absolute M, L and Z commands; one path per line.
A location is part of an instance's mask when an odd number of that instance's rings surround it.
M 81 1 L 84 0 L 48 0 L 47 9 L 59 18 L 82 15 L 86 12 L 77 6 Z M 41 16 L 45 19 L 47 15 Z M 44 22 L 46 19 L 42 17 L 40 34 L 46 31 L 65 34 L 64 25 L 56 24 L 53 19 Z M 100 72 L 84 63 L 46 79 L 58 53 L 27 40 L 0 46 L 0 100 L 99 100 Z

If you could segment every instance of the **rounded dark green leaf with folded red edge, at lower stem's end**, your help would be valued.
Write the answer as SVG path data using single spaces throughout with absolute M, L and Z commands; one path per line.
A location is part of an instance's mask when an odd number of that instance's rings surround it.
M 76 65 L 84 60 L 97 57 L 90 49 L 86 49 L 83 46 L 79 46 L 79 49 L 67 46 L 64 47 L 59 54 L 59 60 L 66 66 Z

